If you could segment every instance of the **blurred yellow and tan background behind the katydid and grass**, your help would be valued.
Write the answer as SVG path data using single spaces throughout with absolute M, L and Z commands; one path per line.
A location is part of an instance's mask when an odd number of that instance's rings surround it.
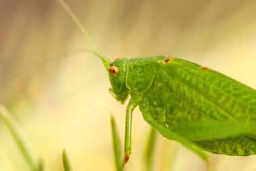
M 256 88 L 256 1 L 66 1 L 98 48 L 115 57 L 180 57 Z M 57 1 L 0 2 L 0 104 L 47 170 L 115 170 L 110 112 L 124 138 L 125 105 L 109 94 L 91 44 Z M 142 170 L 149 125 L 133 114 L 126 170 Z M 28 170 L 0 121 L 0 170 Z M 256 170 L 255 156 L 210 155 L 216 170 Z M 154 170 L 205 170 L 181 145 L 158 136 Z

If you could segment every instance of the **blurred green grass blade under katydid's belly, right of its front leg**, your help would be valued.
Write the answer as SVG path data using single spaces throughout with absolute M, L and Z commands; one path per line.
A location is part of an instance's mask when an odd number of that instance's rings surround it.
M 156 147 L 156 129 L 151 127 L 150 134 L 148 136 L 148 141 L 146 143 L 146 149 L 144 153 L 145 158 L 145 169 L 147 171 L 153 170 L 153 159 L 154 159 L 154 151 Z

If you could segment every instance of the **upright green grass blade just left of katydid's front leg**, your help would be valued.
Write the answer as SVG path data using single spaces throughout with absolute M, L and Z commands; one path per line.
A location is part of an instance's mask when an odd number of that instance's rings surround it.
M 115 165 L 116 169 L 119 171 L 123 170 L 125 164 L 122 158 L 122 150 L 121 150 L 121 141 L 119 137 L 119 132 L 117 130 L 117 123 L 115 118 L 111 115 L 111 128 L 112 128 L 112 136 L 113 136 L 113 149 L 115 154 Z

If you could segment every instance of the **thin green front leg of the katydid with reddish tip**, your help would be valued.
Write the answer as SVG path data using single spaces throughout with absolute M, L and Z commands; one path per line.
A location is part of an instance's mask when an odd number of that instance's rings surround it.
M 131 98 L 129 104 L 126 108 L 126 118 L 125 118 L 125 158 L 124 162 L 127 163 L 129 156 L 131 154 L 131 120 L 132 113 L 136 106 L 139 105 L 141 100 Z

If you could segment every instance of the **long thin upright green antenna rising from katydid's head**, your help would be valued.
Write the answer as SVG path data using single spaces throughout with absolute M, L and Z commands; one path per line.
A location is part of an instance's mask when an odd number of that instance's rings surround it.
M 65 9 L 65 11 L 69 14 L 69 16 L 72 18 L 72 20 L 75 22 L 75 24 L 79 27 L 79 29 L 83 32 L 84 36 L 86 36 L 86 38 L 89 40 L 89 42 L 92 44 L 92 46 L 94 47 L 94 49 L 96 50 L 96 55 L 102 60 L 104 67 L 108 70 L 109 66 L 110 66 L 110 61 L 109 59 L 107 59 L 102 53 L 100 53 L 100 50 L 98 50 L 96 44 L 94 44 L 94 42 L 92 41 L 92 38 L 90 37 L 90 35 L 88 34 L 88 32 L 86 31 L 86 29 L 84 28 L 84 26 L 82 25 L 82 23 L 78 20 L 78 18 L 75 16 L 75 14 L 73 13 L 73 11 L 69 8 L 69 6 L 67 6 L 67 4 L 63 1 L 63 0 L 58 0 L 59 3 L 61 4 L 61 6 L 63 7 L 63 9 Z

